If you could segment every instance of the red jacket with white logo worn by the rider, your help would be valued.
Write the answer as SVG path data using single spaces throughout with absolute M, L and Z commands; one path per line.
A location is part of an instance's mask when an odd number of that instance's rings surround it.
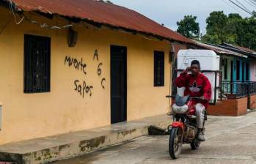
M 205 108 L 208 107 L 208 101 L 211 100 L 211 83 L 208 78 L 201 72 L 197 76 L 182 72 L 175 81 L 176 86 L 185 87 L 184 95 L 190 95 L 191 97 L 204 96 L 205 100 L 199 100 Z

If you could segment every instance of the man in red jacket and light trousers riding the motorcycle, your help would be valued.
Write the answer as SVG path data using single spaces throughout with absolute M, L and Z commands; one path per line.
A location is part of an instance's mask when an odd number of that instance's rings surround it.
M 188 72 L 191 71 L 191 74 Z M 208 107 L 208 101 L 211 100 L 211 83 L 208 78 L 200 72 L 200 62 L 194 60 L 191 62 L 191 67 L 187 67 L 180 76 L 176 78 L 176 86 L 185 87 L 184 95 L 190 97 L 200 97 L 200 100 L 195 101 L 197 125 L 198 125 L 198 140 L 205 141 L 203 134 L 203 124 L 205 119 L 205 109 Z

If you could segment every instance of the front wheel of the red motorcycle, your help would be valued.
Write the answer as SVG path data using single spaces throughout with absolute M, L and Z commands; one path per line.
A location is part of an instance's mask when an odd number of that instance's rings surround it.
M 172 159 L 177 159 L 180 156 L 182 148 L 182 131 L 178 127 L 172 127 L 169 135 L 169 155 Z

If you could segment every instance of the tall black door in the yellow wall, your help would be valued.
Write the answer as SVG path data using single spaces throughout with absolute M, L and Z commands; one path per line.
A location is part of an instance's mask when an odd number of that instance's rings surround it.
M 126 52 L 126 47 L 111 45 L 111 124 L 127 117 Z

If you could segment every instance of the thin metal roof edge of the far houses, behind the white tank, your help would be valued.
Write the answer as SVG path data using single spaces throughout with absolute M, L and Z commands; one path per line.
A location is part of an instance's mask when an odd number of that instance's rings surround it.
M 246 55 L 243 55 L 241 53 L 235 53 L 233 51 L 229 51 L 229 50 L 224 49 L 224 48 L 219 48 L 219 47 L 214 46 L 214 45 L 208 45 L 208 44 L 205 44 L 205 43 L 202 43 L 202 42 L 197 42 L 197 41 L 194 41 L 194 42 L 196 43 L 196 45 L 198 45 L 198 46 L 200 46 L 202 48 L 206 48 L 208 50 L 212 50 L 212 51 L 214 51 L 216 53 L 247 58 Z

